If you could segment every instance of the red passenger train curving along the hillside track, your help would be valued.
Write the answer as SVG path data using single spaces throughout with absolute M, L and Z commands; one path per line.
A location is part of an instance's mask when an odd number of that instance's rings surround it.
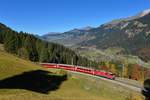
M 115 75 L 110 72 L 94 70 L 91 68 L 85 68 L 81 66 L 66 65 L 66 64 L 53 64 L 53 63 L 41 63 L 40 65 L 46 68 L 65 69 L 69 71 L 76 71 L 76 72 L 86 73 L 90 75 L 100 76 L 100 77 L 104 77 L 104 78 L 108 78 L 112 80 L 115 79 Z

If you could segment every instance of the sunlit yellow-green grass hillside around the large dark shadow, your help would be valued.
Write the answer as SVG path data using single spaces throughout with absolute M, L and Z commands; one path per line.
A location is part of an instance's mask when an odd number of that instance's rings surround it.
M 30 61 L 0 51 L 0 80 L 34 70 L 46 70 L 53 72 L 50 75 L 56 74 L 56 76 L 62 72 L 43 69 Z M 57 90 L 50 91 L 48 94 L 25 89 L 0 89 L 0 100 L 132 100 L 129 98 L 134 97 L 133 93 L 121 86 L 88 76 L 69 74 L 68 80 L 64 81 Z

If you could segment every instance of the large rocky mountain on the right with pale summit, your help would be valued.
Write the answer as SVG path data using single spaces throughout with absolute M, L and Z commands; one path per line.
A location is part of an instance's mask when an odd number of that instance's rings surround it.
M 143 11 L 132 19 L 129 17 L 117 23 L 101 25 L 89 35 L 95 38 L 78 45 L 97 49 L 119 47 L 126 54 L 137 55 L 145 61 L 150 60 L 150 11 Z

